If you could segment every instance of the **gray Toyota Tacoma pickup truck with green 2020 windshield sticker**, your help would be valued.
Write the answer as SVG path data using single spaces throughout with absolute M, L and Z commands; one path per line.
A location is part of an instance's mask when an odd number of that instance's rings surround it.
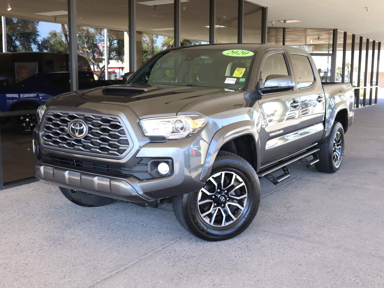
M 86 207 L 172 202 L 182 226 L 225 240 L 255 217 L 259 178 L 278 184 L 295 161 L 339 169 L 353 102 L 351 84 L 322 85 L 300 49 L 164 50 L 125 85 L 65 93 L 40 106 L 35 175 Z

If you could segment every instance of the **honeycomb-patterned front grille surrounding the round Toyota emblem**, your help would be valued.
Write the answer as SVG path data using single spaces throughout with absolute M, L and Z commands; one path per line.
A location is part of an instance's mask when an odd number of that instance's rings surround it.
M 68 125 L 75 119 L 83 120 L 88 126 L 83 139 L 76 139 L 68 132 Z M 126 129 L 120 118 L 113 115 L 48 111 L 40 131 L 43 146 L 75 153 L 119 157 L 129 148 Z

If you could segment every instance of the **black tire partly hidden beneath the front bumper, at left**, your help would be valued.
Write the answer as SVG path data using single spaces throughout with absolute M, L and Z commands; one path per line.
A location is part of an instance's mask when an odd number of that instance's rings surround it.
M 113 199 L 101 197 L 99 195 L 89 194 L 78 190 L 68 189 L 64 187 L 59 188 L 61 190 L 61 193 L 63 193 L 68 200 L 70 200 L 74 204 L 84 207 L 104 206 L 115 201 Z

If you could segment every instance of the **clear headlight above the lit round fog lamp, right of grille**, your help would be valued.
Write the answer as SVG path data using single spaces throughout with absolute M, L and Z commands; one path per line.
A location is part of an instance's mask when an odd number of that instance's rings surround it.
M 139 122 L 145 136 L 164 136 L 167 139 L 182 139 L 196 133 L 207 120 L 201 115 L 159 117 Z

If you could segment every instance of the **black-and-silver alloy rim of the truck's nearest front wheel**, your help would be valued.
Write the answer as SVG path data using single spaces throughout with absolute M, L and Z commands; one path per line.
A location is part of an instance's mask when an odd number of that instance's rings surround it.
M 197 194 L 197 208 L 202 219 L 216 227 L 237 220 L 247 204 L 247 187 L 240 175 L 223 171 L 212 175 Z

